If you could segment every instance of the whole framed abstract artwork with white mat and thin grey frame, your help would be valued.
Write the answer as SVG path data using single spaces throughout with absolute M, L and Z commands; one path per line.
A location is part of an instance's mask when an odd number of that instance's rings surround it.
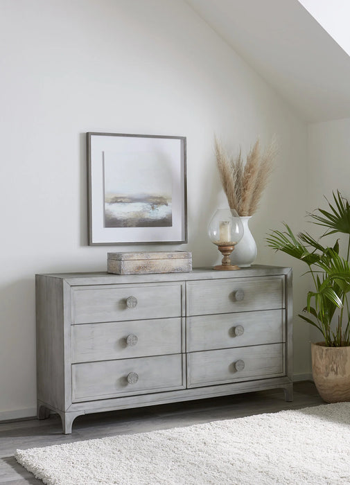
M 186 243 L 186 137 L 87 133 L 89 245 Z

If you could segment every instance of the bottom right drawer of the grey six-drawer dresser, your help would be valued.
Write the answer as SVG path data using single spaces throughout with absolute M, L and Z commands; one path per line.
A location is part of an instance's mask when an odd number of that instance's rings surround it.
M 193 352 L 187 355 L 187 387 L 285 375 L 285 344 Z

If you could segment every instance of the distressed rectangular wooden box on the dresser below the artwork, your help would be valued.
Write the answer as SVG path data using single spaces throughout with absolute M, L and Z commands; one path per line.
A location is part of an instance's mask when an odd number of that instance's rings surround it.
M 192 253 L 184 251 L 107 253 L 107 272 L 114 274 L 192 271 Z

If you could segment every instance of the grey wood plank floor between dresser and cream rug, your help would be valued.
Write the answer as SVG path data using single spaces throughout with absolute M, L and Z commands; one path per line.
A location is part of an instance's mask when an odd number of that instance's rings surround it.
M 283 391 L 277 389 L 187 403 L 125 409 L 119 412 L 87 414 L 76 418 L 72 434 L 66 435 L 62 434 L 60 418 L 57 415 L 50 416 L 44 421 L 33 418 L 0 423 L 0 484 L 43 483 L 17 464 L 13 457 L 17 448 L 34 448 L 116 434 L 160 430 L 320 404 L 324 402 L 318 396 L 313 382 L 297 382 L 292 403 L 286 403 Z

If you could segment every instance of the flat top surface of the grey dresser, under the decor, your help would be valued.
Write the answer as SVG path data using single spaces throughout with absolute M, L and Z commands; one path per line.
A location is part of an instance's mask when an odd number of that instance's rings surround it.
M 116 283 L 148 283 L 152 281 L 196 281 L 201 279 L 248 278 L 252 276 L 278 276 L 290 274 L 292 268 L 252 265 L 238 271 L 216 271 L 211 267 L 193 268 L 191 272 L 154 274 L 110 274 L 107 272 L 38 274 L 67 281 L 69 285 L 93 285 Z

